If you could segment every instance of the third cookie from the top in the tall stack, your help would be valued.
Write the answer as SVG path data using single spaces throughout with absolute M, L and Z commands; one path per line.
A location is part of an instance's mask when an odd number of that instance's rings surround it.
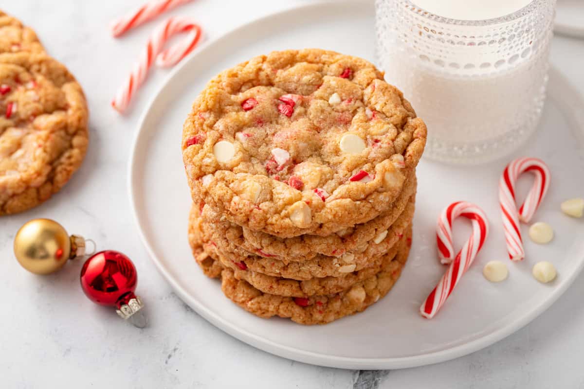
M 300 281 L 326 276 L 339 277 L 376 264 L 380 255 L 391 250 L 404 236 L 412 222 L 414 202 L 415 199 L 411 198 L 405 211 L 388 230 L 380 234 L 377 240 L 369 242 L 361 251 L 347 252 L 340 257 L 317 255 L 311 260 L 297 261 L 297 258 L 259 257 L 245 250 L 231 252 L 225 245 L 226 241 L 241 240 L 241 237 L 238 239 L 234 236 L 231 229 L 220 230 L 219 233 L 214 232 L 212 235 L 208 234 L 211 225 L 205 222 L 204 218 L 199 218 L 199 208 L 196 205 L 193 205 L 190 213 L 189 239 L 192 247 L 203 246 L 206 253 L 215 258 L 224 258 L 228 261 L 227 264 L 224 264 L 236 270 L 241 269 L 242 271 L 258 272 Z M 233 228 L 237 230 L 237 227 Z M 221 239 L 221 232 L 223 232 L 223 239 Z

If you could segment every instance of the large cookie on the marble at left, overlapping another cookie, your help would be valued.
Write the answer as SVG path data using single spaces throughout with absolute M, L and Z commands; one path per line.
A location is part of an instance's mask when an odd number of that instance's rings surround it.
M 51 197 L 84 159 L 88 110 L 81 86 L 46 54 L 0 54 L 0 215 Z

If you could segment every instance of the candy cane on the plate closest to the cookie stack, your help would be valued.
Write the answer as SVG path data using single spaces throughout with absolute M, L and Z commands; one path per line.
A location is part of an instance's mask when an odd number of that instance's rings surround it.
M 452 223 L 458 216 L 471 220 L 472 234 L 455 257 L 452 245 Z M 420 306 L 420 313 L 423 317 L 433 318 L 440 310 L 440 307 L 444 305 L 460 278 L 467 272 L 472 261 L 477 257 L 477 253 L 481 250 L 488 234 L 489 222 L 486 219 L 485 212 L 477 205 L 459 201 L 449 205 L 442 211 L 438 219 L 436 240 L 440 260 L 442 263 L 449 263 L 450 266 L 438 285 L 436 285 L 436 288 L 432 290 L 430 295 L 426 297 L 425 302 Z

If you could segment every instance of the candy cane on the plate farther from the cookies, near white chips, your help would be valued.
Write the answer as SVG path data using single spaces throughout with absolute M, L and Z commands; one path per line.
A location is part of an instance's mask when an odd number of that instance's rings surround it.
M 524 172 L 534 174 L 533 186 L 523 204 L 517 209 L 515 204 L 515 186 L 517 178 Z M 545 197 L 550 186 L 550 170 L 537 158 L 517 158 L 507 165 L 499 180 L 499 205 L 503 216 L 503 229 L 507 242 L 507 253 L 512 261 L 521 261 L 525 257 L 519 222 L 529 223 L 533 214 Z

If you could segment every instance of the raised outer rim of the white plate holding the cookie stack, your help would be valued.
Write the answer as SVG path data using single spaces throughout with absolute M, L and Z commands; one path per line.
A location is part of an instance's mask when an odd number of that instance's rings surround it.
M 175 281 L 175 279 L 173 279 L 172 275 L 169 274 L 169 271 L 164 267 L 162 261 L 159 260 L 159 258 L 154 252 L 154 249 L 151 247 L 151 244 L 148 241 L 144 230 L 141 227 L 141 216 L 138 213 L 137 209 L 138 203 L 137 192 L 134 190 L 133 182 L 134 180 L 137 179 L 136 162 L 138 142 L 140 141 L 141 138 L 140 135 L 141 132 L 144 130 L 145 123 L 148 120 L 152 108 L 154 108 L 155 104 L 157 104 L 157 100 L 161 96 L 162 92 L 168 86 L 171 80 L 175 77 L 175 75 L 178 72 L 180 72 L 180 70 L 184 66 L 186 66 L 190 61 L 196 60 L 197 55 L 199 55 L 200 52 L 210 50 L 216 44 L 221 44 L 224 41 L 230 40 L 232 37 L 237 37 L 237 34 L 242 30 L 255 28 L 256 24 L 260 24 L 266 19 L 270 19 L 272 17 L 286 16 L 287 13 L 297 12 L 298 9 L 310 10 L 316 8 L 330 8 L 331 6 L 343 8 L 345 6 L 355 6 L 360 2 L 363 3 L 370 1 L 369 0 L 318 1 L 311 4 L 299 4 L 284 10 L 280 10 L 279 12 L 270 13 L 269 15 L 262 16 L 259 19 L 253 19 L 248 23 L 242 24 L 241 26 L 238 26 L 235 29 L 228 31 L 227 33 L 224 33 L 221 36 L 214 38 L 213 40 L 207 41 L 199 48 L 194 50 L 192 54 L 189 55 L 189 57 L 181 61 L 181 63 L 178 66 L 175 66 L 175 68 L 172 69 L 169 75 L 166 76 L 161 86 L 159 86 L 157 92 L 151 97 L 147 104 L 145 104 L 145 108 L 142 111 L 140 118 L 138 119 L 137 125 L 138 129 L 136 130 L 133 141 L 131 142 L 131 151 L 130 158 L 128 160 L 127 173 L 128 174 L 127 190 L 130 199 L 131 213 L 133 214 L 134 223 L 138 229 L 138 234 L 140 236 L 142 244 L 144 244 L 147 253 L 151 257 L 151 260 L 154 262 L 155 266 L 157 267 L 158 271 L 162 274 L 162 276 L 164 276 L 166 282 L 168 282 L 171 285 L 172 289 L 180 297 L 180 299 L 189 304 L 189 306 L 192 307 L 192 309 L 196 311 L 197 314 L 199 314 L 205 320 L 213 324 L 215 327 L 231 335 L 232 337 L 239 339 L 240 341 L 245 342 L 248 345 L 272 353 L 274 355 L 318 366 L 337 367 L 342 369 L 402 369 L 406 367 L 430 365 L 433 363 L 444 362 L 446 360 L 468 355 L 472 352 L 490 346 L 495 342 L 498 342 L 501 339 L 506 338 L 510 334 L 513 334 L 513 332 L 516 332 L 523 328 L 525 325 L 534 320 L 534 318 L 538 317 L 541 313 L 547 310 L 561 295 L 564 294 L 565 290 L 567 290 L 569 286 L 572 285 L 573 281 L 576 279 L 576 277 L 584 268 L 584 261 L 580 262 L 579 266 L 576 268 L 575 271 L 572 272 L 572 274 L 566 276 L 564 282 L 562 282 L 561 285 L 558 285 L 556 288 L 554 288 L 554 292 L 552 292 L 550 297 L 548 297 L 548 299 L 545 300 L 545 302 L 539 304 L 533 310 L 528 311 L 526 314 L 524 314 L 523 317 L 520 317 L 518 320 L 515 320 L 514 323 L 509 324 L 506 327 L 500 328 L 499 330 L 493 331 L 491 334 L 487 334 L 481 338 L 474 339 L 472 341 L 466 342 L 461 345 L 453 346 L 448 349 L 430 353 L 422 353 L 415 356 L 405 356 L 399 358 L 350 358 L 345 356 L 334 356 L 327 355 L 324 353 L 304 351 L 290 346 L 281 345 L 274 341 L 263 339 L 259 335 L 255 335 L 251 332 L 241 330 L 241 328 L 238 328 L 237 325 L 230 323 L 229 321 L 215 314 L 210 309 L 207 309 L 207 307 L 200 304 L 198 300 L 193 299 L 189 295 L 189 293 L 187 293 L 186 290 L 183 289 L 182 286 L 180 286 L 179 283 Z M 569 83 L 568 79 L 566 79 L 565 76 L 561 74 L 561 72 L 554 68 L 554 66 L 550 66 L 550 80 L 553 80 L 558 84 L 561 84 L 563 90 L 569 90 L 572 95 L 570 96 L 572 97 L 572 101 L 573 99 L 579 100 L 580 102 L 584 101 L 582 99 L 581 94 L 573 88 L 573 86 Z M 553 89 L 557 89 L 558 87 L 559 86 L 550 85 L 549 90 L 551 91 Z M 549 94 L 551 94 L 551 92 Z M 564 98 L 561 99 L 563 103 L 566 103 L 566 101 L 570 100 L 568 96 L 563 97 Z M 560 104 L 560 107 L 562 108 L 564 107 L 564 105 Z M 578 122 L 584 122 L 584 117 L 579 117 L 580 115 L 576 116 L 578 116 L 577 119 Z

